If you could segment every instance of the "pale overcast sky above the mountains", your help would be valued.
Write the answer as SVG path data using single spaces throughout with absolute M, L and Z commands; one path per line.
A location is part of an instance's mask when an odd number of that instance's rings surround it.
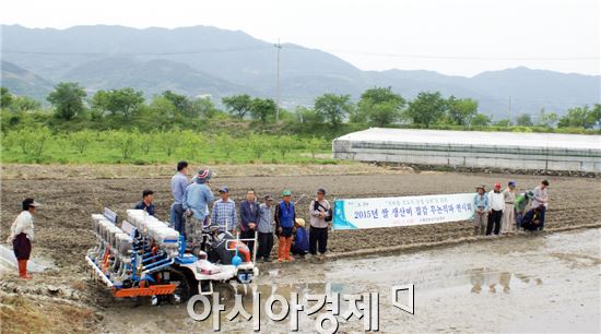
M 601 74 L 601 0 L 4 0 L 26 27 L 210 25 L 331 52 L 362 70 L 471 76 L 526 65 Z

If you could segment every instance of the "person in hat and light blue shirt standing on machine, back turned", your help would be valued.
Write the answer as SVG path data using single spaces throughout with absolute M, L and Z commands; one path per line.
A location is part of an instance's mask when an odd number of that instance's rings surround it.
M 186 239 L 192 247 L 198 246 L 202 241 L 202 227 L 209 216 L 209 203 L 214 200 L 213 192 L 209 180 L 211 171 L 209 169 L 200 169 L 193 178 L 193 182 L 186 187 L 184 193 L 182 207 L 185 211 Z

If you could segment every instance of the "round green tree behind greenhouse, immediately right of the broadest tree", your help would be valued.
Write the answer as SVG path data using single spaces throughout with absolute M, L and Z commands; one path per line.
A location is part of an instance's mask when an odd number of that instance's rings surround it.
M 427 128 L 439 120 L 447 110 L 447 102 L 439 92 L 421 92 L 410 104 L 405 116 L 414 124 Z

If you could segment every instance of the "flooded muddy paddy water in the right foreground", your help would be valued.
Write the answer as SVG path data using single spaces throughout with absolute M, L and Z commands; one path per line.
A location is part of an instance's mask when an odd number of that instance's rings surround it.
M 380 332 L 593 332 L 600 329 L 601 229 L 492 239 L 452 248 L 346 259 L 297 261 L 266 270 L 256 281 L 263 300 L 272 291 L 300 296 L 325 291 L 379 293 Z M 415 314 L 391 305 L 391 286 L 414 284 Z M 251 313 L 250 296 L 245 309 Z M 399 295 L 404 302 L 406 295 Z M 225 315 L 222 331 L 251 332 Z M 341 302 L 341 310 L 347 309 Z M 278 308 L 274 309 L 278 311 Z M 116 303 L 104 311 L 106 332 L 212 332 L 211 319 L 191 320 L 185 306 Z M 300 313 L 300 332 L 315 332 L 317 314 Z M 363 331 L 363 320 L 340 321 L 340 332 Z M 264 312 L 261 330 L 288 332 L 288 320 Z M 326 323 L 329 326 L 329 323 Z

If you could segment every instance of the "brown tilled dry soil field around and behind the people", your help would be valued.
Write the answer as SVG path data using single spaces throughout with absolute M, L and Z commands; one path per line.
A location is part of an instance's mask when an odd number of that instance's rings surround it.
M 46 168 L 46 167 L 45 167 Z M 57 167 L 62 168 L 63 167 Z M 36 238 L 33 257 L 50 259 L 56 263 L 56 270 L 37 274 L 32 282 L 17 281 L 13 273 L 5 273 L 0 291 L 7 298 L 15 294 L 32 296 L 40 306 L 43 299 L 59 298 L 81 308 L 107 307 L 111 301 L 101 288 L 94 287 L 86 279 L 84 254 L 95 243 L 91 231 L 92 213 L 99 213 L 104 206 L 118 212 L 121 216 L 140 200 L 143 189 L 155 191 L 157 216 L 166 219 L 170 205 L 169 175 L 161 172 L 152 178 L 145 175 L 128 175 L 128 178 L 97 177 L 93 168 L 86 177 L 66 177 L 62 174 L 52 175 L 52 166 L 47 167 L 49 174 L 44 178 L 35 175 L 20 177 L 14 170 L 3 172 L 11 175 L 2 177 L 1 203 L 2 216 L 0 224 L 0 240 L 5 240 L 10 225 L 20 212 L 21 201 L 25 196 L 35 196 L 44 204 L 36 216 Z M 103 169 L 106 169 L 103 166 Z M 350 175 L 341 166 L 328 166 L 322 172 L 327 175 L 279 175 L 251 176 L 248 171 L 256 166 L 248 166 L 243 176 L 221 174 L 212 180 L 213 189 L 227 186 L 232 198 L 239 203 L 248 189 L 255 189 L 259 195 L 271 193 L 279 196 L 283 189 L 292 189 L 294 196 L 307 194 L 307 199 L 297 204 L 297 214 L 308 218 L 308 205 L 315 190 L 326 188 L 328 199 L 333 198 L 372 198 L 401 196 L 420 194 L 440 194 L 472 192 L 474 186 L 485 183 L 491 187 L 499 181 L 507 183 L 514 179 L 519 190 L 532 189 L 541 181 L 541 177 L 522 175 L 490 175 L 490 174 L 457 174 L 427 172 L 420 174 L 410 170 L 391 171 L 385 168 L 369 168 L 369 174 L 363 174 L 361 168 L 352 167 Z M 10 169 L 10 167 L 9 167 Z M 58 170 L 62 170 L 58 169 Z M 123 169 L 119 166 L 119 169 Z M 219 166 L 215 167 L 220 174 Z M 294 170 L 292 170 L 294 171 Z M 290 171 L 288 171 L 290 172 Z M 248 176 L 250 175 L 250 176 Z M 601 224 L 601 180 L 576 177 L 550 177 L 550 207 L 546 227 L 549 230 L 566 229 L 584 225 Z M 394 229 L 370 229 L 354 231 L 331 231 L 329 239 L 330 257 L 351 255 L 365 252 L 386 253 L 391 249 L 403 247 L 427 247 L 437 243 L 471 240 L 473 228 L 469 222 L 423 225 Z M 281 266 L 285 264 L 270 264 Z M 47 285 L 58 286 L 58 291 Z M 11 297 L 12 296 L 12 297 Z M 5 312 L 1 313 L 5 317 Z M 7 319 L 1 319 L 7 320 Z M 82 323 L 94 321 L 90 317 Z M 82 325 L 87 327 L 87 325 Z

